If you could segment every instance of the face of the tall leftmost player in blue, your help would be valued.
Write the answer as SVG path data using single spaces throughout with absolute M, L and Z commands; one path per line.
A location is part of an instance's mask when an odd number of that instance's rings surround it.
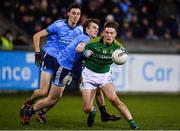
M 70 22 L 69 24 L 76 25 L 77 22 L 79 21 L 81 16 L 81 10 L 79 8 L 72 8 L 68 12 L 68 21 Z

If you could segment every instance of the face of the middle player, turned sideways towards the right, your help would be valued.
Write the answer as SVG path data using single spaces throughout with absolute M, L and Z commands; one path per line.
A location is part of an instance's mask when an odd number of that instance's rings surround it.
M 90 23 L 90 26 L 87 28 L 86 33 L 94 38 L 98 35 L 99 32 L 99 26 L 96 23 Z

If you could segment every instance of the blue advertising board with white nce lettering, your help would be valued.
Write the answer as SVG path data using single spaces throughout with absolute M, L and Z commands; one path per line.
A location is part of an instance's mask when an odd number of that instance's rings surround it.
M 39 73 L 33 52 L 0 51 L 0 90 L 34 90 Z

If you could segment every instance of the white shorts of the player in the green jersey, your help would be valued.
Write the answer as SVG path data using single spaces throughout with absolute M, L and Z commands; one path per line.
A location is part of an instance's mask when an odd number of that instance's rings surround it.
M 112 83 L 111 71 L 96 73 L 87 68 L 82 71 L 82 89 L 102 88 L 105 84 Z

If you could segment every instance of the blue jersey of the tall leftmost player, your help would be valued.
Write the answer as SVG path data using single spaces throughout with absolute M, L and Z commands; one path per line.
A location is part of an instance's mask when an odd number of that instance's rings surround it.
M 82 26 L 74 28 L 68 25 L 67 20 L 58 20 L 48 26 L 48 40 L 44 47 L 44 51 L 49 55 L 56 57 L 59 52 L 64 50 L 74 39 L 83 33 Z

